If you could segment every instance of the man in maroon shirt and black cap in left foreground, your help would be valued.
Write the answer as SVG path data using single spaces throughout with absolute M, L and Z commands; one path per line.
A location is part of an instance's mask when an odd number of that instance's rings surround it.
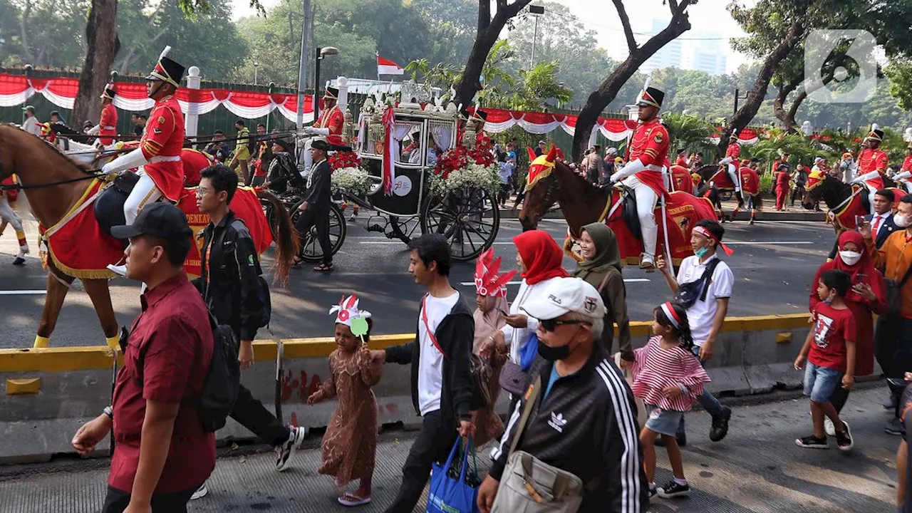
M 127 277 L 148 289 L 122 348 L 113 404 L 79 428 L 73 446 L 88 454 L 113 426 L 102 513 L 183 513 L 215 467 L 215 435 L 192 401 L 212 361 L 209 313 L 183 271 L 192 232 L 181 210 L 156 203 L 111 233 L 130 239 Z

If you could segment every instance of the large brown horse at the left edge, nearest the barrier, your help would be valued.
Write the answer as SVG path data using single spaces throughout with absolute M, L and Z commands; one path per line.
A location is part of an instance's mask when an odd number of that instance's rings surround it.
M 14 126 L 0 125 L 0 179 L 14 173 L 28 197 L 32 213 L 42 226 L 55 226 L 67 214 L 71 215 L 73 206 L 82 200 L 88 187 L 94 183 L 94 174 L 57 152 L 51 145 Z M 275 197 L 265 199 L 280 204 Z M 281 211 L 285 212 L 284 209 Z M 262 209 L 258 212 L 263 214 Z M 298 240 L 287 212 L 283 217 L 284 221 L 280 219 L 279 222 L 284 233 L 276 237 L 275 274 L 280 280 L 287 279 L 288 269 L 297 253 L 295 245 Z M 89 246 L 93 244 L 93 241 L 85 242 Z M 108 288 L 108 279 L 112 275 L 97 272 L 83 274 L 77 270 L 65 272 L 57 265 L 52 252 L 47 254 L 47 270 L 47 296 L 38 322 L 35 346 L 47 346 L 47 341 L 57 326 L 57 317 L 67 291 L 77 277 L 92 300 L 109 345 L 115 343 L 118 323 Z

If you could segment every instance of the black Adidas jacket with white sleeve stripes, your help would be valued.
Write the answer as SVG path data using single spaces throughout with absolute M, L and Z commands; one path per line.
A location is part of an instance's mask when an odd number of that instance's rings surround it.
M 648 483 L 639 445 L 637 405 L 614 361 L 597 342 L 589 361 L 575 374 L 558 378 L 542 401 L 554 363 L 536 358 L 529 376 L 542 388 L 517 450 L 571 472 L 595 491 L 581 513 L 640 513 L 648 508 Z M 516 404 L 506 432 L 494 447 L 491 476 L 500 479 L 507 464 L 525 399 Z

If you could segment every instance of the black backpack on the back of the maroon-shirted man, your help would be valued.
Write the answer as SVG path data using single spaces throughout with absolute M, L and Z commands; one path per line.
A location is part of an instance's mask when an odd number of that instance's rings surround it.
M 241 388 L 241 363 L 237 361 L 237 355 L 241 344 L 234 338 L 231 326 L 219 324 L 212 312 L 209 312 L 209 325 L 212 327 L 212 360 L 202 382 L 202 391 L 192 399 L 192 403 L 203 431 L 214 433 L 224 427 L 237 402 Z M 120 334 L 120 347 L 124 351 L 128 338 L 124 328 Z M 144 356 L 145 351 L 140 351 L 140 361 Z

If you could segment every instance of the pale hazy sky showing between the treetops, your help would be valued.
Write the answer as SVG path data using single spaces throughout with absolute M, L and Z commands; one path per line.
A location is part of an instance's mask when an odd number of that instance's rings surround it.
M 617 17 L 614 3 L 611 0 L 554 0 L 555 2 L 570 7 L 570 11 L 580 19 L 586 20 L 583 26 L 595 30 L 598 34 L 599 45 L 608 50 L 611 58 L 623 59 L 627 57 L 627 45 L 624 43 L 624 33 L 621 28 L 620 20 Z M 751 5 L 755 0 L 740 0 L 742 4 Z M 275 5 L 278 0 L 261 0 L 261 3 L 269 9 Z M 250 16 L 254 11 L 248 6 L 249 0 L 233 0 L 233 19 L 243 16 Z M 642 42 L 648 39 L 646 34 L 652 33 L 653 19 L 670 19 L 670 11 L 667 5 L 662 5 L 662 0 L 632 0 L 625 2 L 627 6 L 627 15 L 630 16 L 630 23 L 634 32 L 644 34 L 637 35 L 637 41 Z M 737 54 L 731 50 L 728 38 L 741 37 L 744 32 L 741 27 L 731 19 L 725 6 L 729 5 L 729 0 L 700 0 L 697 5 L 691 5 L 688 9 L 690 14 L 690 26 L 692 28 L 684 33 L 682 40 L 696 37 L 707 37 L 705 33 L 710 33 L 711 37 L 720 37 L 721 51 L 728 57 L 728 71 L 734 71 L 742 63 L 748 60 L 745 56 Z M 694 42 L 685 42 L 685 44 L 694 44 Z

